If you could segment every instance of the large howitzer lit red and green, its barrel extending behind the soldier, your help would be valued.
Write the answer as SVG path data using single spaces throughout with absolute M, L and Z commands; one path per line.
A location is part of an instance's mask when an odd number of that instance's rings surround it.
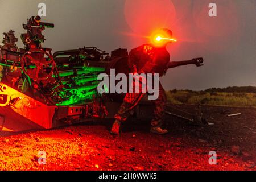
M 31 129 L 26 124 L 29 122 L 50 129 L 93 118 L 113 118 L 123 97 L 98 93 L 97 77 L 100 73 L 108 74 L 110 69 L 115 69 L 115 73 L 129 72 L 127 49 L 114 50 L 111 55 L 96 47 L 52 54 L 50 48 L 41 45 L 46 40 L 42 35 L 46 27 L 53 24 L 42 23 L 37 16 L 28 19 L 23 24 L 27 31 L 22 34 L 24 48 L 19 49 L 14 32 L 5 34 L 5 45 L 0 46 L 0 129 L 24 131 Z M 201 58 L 174 61 L 168 68 L 202 63 Z M 150 117 L 148 107 L 150 102 L 139 104 L 135 118 Z M 5 124 L 1 124 L 1 117 Z

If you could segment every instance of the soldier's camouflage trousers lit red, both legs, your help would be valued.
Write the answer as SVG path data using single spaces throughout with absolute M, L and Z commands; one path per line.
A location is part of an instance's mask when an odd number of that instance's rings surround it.
M 164 92 L 163 86 L 159 81 L 159 97 L 156 100 L 151 100 L 154 105 L 154 115 L 151 120 L 151 126 L 161 127 L 164 119 L 164 104 L 166 103 L 166 93 Z M 126 93 L 123 103 L 119 108 L 118 113 L 115 115 L 115 119 L 123 122 L 133 113 L 135 106 L 138 105 L 142 97 L 147 93 Z

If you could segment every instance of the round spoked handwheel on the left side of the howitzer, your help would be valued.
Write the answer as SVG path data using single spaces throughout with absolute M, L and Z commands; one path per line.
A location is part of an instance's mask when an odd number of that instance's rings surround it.
M 55 61 L 48 52 L 43 49 L 35 49 L 24 53 L 21 67 L 23 73 L 28 77 L 34 80 L 46 80 L 53 74 Z

